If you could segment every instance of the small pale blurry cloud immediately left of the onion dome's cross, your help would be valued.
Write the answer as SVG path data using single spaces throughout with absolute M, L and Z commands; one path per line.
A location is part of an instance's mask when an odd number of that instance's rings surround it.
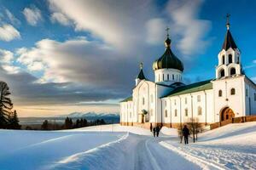
M 150 44 L 159 44 L 164 42 L 166 26 L 166 20 L 164 19 L 155 18 L 148 20 L 146 23 L 147 42 Z

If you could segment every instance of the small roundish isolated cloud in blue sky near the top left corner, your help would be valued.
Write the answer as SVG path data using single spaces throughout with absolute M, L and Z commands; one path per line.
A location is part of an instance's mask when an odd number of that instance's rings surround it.
M 41 11 L 36 7 L 24 8 L 22 12 L 26 18 L 26 21 L 31 26 L 37 26 L 39 20 L 43 20 Z

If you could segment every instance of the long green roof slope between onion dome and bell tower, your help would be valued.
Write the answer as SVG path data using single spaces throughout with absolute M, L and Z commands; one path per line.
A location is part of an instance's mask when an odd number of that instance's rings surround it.
M 190 94 L 190 93 L 195 93 L 203 90 L 208 90 L 212 89 L 212 80 L 207 80 L 203 82 L 195 82 L 193 84 L 189 84 L 186 86 L 182 86 L 180 88 L 174 89 L 170 94 L 167 94 L 164 97 L 171 97 L 171 96 L 176 96 L 176 95 L 181 95 L 181 94 Z

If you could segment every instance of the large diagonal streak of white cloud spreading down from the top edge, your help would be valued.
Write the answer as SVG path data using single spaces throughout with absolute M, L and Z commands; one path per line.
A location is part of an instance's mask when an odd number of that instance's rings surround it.
M 76 31 L 90 31 L 93 37 L 123 51 L 144 41 L 145 23 L 157 14 L 150 0 L 114 4 L 109 0 L 49 0 L 49 4 L 53 13 L 67 16 Z

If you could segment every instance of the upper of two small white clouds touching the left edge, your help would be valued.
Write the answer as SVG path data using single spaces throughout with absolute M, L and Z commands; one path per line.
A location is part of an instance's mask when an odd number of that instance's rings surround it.
M 0 27 L 0 40 L 9 42 L 19 38 L 20 38 L 20 32 L 17 31 L 14 26 L 5 24 L 2 27 Z

